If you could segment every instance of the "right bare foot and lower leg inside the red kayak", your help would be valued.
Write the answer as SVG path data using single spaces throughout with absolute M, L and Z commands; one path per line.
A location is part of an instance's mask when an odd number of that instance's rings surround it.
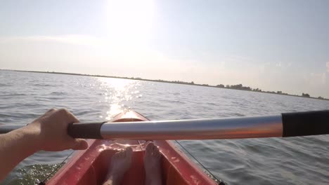
M 146 172 L 145 182 L 146 185 L 161 185 L 161 154 L 157 146 L 150 142 L 146 146 L 146 153 L 144 157 L 144 167 Z

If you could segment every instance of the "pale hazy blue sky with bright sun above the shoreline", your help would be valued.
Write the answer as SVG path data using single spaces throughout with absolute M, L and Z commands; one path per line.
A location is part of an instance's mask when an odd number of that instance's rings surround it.
M 329 1 L 0 2 L 0 69 L 329 98 Z

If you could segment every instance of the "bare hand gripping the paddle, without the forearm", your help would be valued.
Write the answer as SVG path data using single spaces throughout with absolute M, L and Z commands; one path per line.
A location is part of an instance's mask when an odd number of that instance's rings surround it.
M 74 139 L 67 135 L 67 125 L 77 122 L 79 122 L 77 118 L 66 109 L 50 109 L 27 125 L 25 129 L 36 136 L 37 150 L 87 149 L 88 143 L 86 140 Z

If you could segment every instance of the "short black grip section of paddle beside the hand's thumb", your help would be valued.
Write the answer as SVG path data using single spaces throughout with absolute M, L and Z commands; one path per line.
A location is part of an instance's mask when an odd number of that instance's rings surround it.
M 67 134 L 73 138 L 103 139 L 101 135 L 101 123 L 71 123 L 67 127 Z

